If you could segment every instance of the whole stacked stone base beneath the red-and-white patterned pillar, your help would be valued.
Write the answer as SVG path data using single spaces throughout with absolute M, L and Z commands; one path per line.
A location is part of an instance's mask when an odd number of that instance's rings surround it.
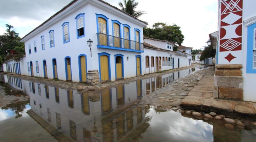
M 240 64 L 216 65 L 214 98 L 243 101 L 244 78 L 242 77 L 242 67 Z

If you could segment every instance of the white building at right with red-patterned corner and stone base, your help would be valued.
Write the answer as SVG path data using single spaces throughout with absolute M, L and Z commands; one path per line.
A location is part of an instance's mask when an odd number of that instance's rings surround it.
M 256 1 L 218 2 L 215 96 L 256 101 Z

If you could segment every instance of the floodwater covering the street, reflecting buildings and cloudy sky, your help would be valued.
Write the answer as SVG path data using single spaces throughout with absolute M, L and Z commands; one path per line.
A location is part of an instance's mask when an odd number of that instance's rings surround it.
M 154 78 L 161 89 L 205 66 Z M 223 121 L 196 120 L 192 115 L 162 111 L 140 102 L 147 94 L 147 79 L 102 91 L 79 93 L 4 76 L 7 95 L 29 95 L 30 100 L 0 109 L 0 141 L 172 141 L 249 142 L 256 127 L 234 130 Z M 158 81 L 157 81 L 158 80 Z M 151 90 L 154 91 L 154 90 Z

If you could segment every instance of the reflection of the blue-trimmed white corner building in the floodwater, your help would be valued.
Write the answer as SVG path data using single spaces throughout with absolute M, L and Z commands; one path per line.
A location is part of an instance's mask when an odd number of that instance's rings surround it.
M 191 72 L 190 69 L 164 74 L 99 92 L 78 93 L 25 80 L 19 82 L 19 79 L 16 79 L 16 88 L 20 89 L 22 84 L 22 91 L 30 96 L 30 105 L 34 106 L 31 110 L 73 140 L 124 141 L 137 137 L 149 127 L 150 117 L 146 116 L 149 106 L 138 100 L 172 83 L 179 74 L 183 77 Z M 7 79 L 11 84 L 12 78 Z M 45 91 L 41 91 L 42 87 Z

